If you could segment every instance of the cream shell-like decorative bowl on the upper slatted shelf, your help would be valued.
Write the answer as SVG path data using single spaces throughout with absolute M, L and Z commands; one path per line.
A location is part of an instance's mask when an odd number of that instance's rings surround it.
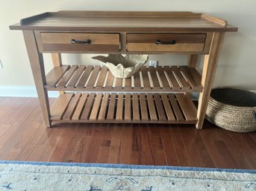
M 111 71 L 114 77 L 128 78 L 133 76 L 149 58 L 147 54 L 108 54 L 108 56 L 94 56 Z

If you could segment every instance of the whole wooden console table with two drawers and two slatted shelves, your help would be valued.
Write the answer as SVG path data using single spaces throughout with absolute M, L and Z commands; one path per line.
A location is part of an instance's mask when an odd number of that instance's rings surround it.
M 22 19 L 22 30 L 47 127 L 57 123 L 193 123 L 202 129 L 225 32 L 225 20 L 190 12 L 59 11 Z M 43 53 L 54 68 L 45 74 Z M 61 53 L 187 54 L 184 66 L 142 67 L 116 79 L 105 67 L 62 65 Z M 205 54 L 202 74 L 196 71 Z M 48 91 L 60 94 L 51 109 Z M 190 92 L 200 92 L 198 109 Z

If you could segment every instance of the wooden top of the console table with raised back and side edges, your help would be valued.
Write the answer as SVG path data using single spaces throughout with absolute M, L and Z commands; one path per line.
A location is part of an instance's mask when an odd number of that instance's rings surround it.
M 59 11 L 10 25 L 12 30 L 71 31 L 237 31 L 225 20 L 203 13 L 134 11 Z

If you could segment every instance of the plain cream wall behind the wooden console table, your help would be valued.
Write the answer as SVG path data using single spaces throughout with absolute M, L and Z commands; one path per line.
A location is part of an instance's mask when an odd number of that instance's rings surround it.
M 57 10 L 187 10 L 209 13 L 239 27 L 238 33 L 226 33 L 214 86 L 236 86 L 256 90 L 255 7 L 255 0 L 0 0 L 0 59 L 4 66 L 4 69 L 0 69 L 0 86 L 34 85 L 22 32 L 9 30 L 8 27 L 22 18 Z M 49 58 L 49 55 L 45 56 L 46 71 L 51 68 Z M 153 55 L 151 59 L 160 60 L 160 65 L 187 64 L 187 57 L 184 55 Z M 64 63 L 69 62 L 92 64 L 90 57 L 86 55 L 64 55 Z M 202 71 L 202 63 L 198 68 Z

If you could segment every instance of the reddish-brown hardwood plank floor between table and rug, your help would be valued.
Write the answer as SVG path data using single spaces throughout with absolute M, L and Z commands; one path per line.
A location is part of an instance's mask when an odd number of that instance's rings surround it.
M 51 100 L 52 103 L 53 100 Z M 0 97 L 0 160 L 256 169 L 256 132 L 190 125 L 61 124 L 37 98 Z

